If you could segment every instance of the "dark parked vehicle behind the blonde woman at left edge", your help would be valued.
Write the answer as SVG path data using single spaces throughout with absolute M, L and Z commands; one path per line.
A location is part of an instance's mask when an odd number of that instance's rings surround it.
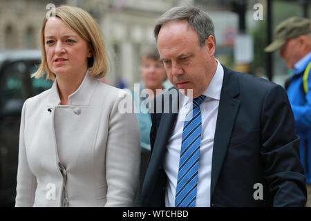
M 39 50 L 0 51 L 0 206 L 15 204 L 23 102 L 53 84 L 30 77 L 40 62 Z

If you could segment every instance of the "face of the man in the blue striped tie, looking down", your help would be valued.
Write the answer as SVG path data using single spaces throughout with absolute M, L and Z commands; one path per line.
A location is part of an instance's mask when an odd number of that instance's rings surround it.
M 169 21 L 160 29 L 158 50 L 169 80 L 178 90 L 185 89 L 185 95 L 193 89 L 193 97 L 198 97 L 209 86 L 217 68 L 214 37 L 201 48 L 187 21 Z

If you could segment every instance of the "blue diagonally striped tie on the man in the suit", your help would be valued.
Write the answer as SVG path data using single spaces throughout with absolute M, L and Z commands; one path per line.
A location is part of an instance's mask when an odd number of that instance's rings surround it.
M 198 166 L 201 142 L 201 111 L 200 104 L 205 99 L 200 95 L 193 99 L 193 110 L 186 116 L 182 131 L 182 146 L 176 186 L 175 206 L 196 206 L 196 186 L 198 184 Z M 192 114 L 190 119 L 189 115 Z M 189 120 L 187 120 L 189 119 Z

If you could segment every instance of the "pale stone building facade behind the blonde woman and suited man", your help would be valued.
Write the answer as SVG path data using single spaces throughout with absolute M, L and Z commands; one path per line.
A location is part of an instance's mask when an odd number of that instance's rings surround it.
M 140 55 L 155 45 L 153 23 L 163 12 L 193 0 L 0 0 L 0 50 L 39 48 L 46 6 L 68 4 L 84 8 L 102 28 L 111 57 L 109 84 L 127 86 L 140 80 Z

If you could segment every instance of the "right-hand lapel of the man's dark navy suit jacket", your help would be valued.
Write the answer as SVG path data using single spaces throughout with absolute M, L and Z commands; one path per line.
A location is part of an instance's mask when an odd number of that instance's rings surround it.
M 218 117 L 214 137 L 213 157 L 211 163 L 211 198 L 219 177 L 227 146 L 234 127 L 240 101 L 234 99 L 239 93 L 238 80 L 231 71 L 224 68 L 223 87 L 220 93 Z

